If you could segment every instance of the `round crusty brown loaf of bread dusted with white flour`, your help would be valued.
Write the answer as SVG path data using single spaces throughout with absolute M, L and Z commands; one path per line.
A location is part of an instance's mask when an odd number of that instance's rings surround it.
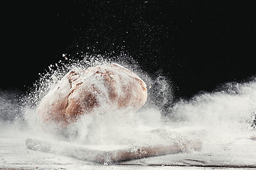
M 144 81 L 119 64 L 75 68 L 42 98 L 38 117 L 43 125 L 65 128 L 84 114 L 104 114 L 113 109 L 136 111 L 146 98 Z

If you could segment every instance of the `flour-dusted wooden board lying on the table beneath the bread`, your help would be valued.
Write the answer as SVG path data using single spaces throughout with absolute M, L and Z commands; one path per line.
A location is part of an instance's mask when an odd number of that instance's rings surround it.
M 69 142 L 46 142 L 28 138 L 26 147 L 41 152 L 60 154 L 75 159 L 97 162 L 100 164 L 114 164 L 144 157 L 156 157 L 166 154 L 187 152 L 191 149 L 198 150 L 202 147 L 201 140 L 185 140 L 150 146 L 91 146 L 78 145 Z

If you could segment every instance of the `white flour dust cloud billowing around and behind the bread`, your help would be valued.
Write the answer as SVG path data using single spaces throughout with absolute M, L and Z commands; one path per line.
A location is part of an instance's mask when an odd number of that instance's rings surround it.
M 65 130 L 43 130 L 37 115 L 38 103 L 67 72 L 77 67 L 86 69 L 112 62 L 132 70 L 146 82 L 149 97 L 139 111 L 122 109 L 97 116 L 83 115 Z M 127 55 L 112 60 L 98 55 L 60 61 L 50 65 L 38 77 L 25 96 L 15 91 L 1 91 L 2 133 L 82 145 L 153 145 L 189 137 L 200 138 L 206 143 L 221 143 L 256 135 L 255 78 L 241 84 L 229 83 L 222 90 L 174 103 L 171 82 L 161 75 L 151 77 L 146 74 Z

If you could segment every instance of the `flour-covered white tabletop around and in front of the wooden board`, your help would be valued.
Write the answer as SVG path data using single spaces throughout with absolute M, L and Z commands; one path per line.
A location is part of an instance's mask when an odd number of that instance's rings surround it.
M 6 130 L 6 128 L 9 129 Z M 38 134 L 32 135 L 24 130 L 6 126 L 4 129 L 1 127 L 0 140 L 0 165 L 4 169 L 219 169 L 220 167 L 238 169 L 256 167 L 255 141 L 248 138 L 223 139 L 219 142 L 208 141 L 204 142 L 201 151 L 197 152 L 149 157 L 105 166 L 27 149 L 26 138 L 35 137 Z

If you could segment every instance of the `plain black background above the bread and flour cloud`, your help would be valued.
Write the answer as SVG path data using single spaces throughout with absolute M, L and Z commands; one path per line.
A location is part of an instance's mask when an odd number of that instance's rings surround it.
M 72 1 L 5 13 L 2 90 L 27 91 L 50 64 L 82 52 L 124 52 L 161 72 L 176 98 L 256 74 L 254 1 Z

